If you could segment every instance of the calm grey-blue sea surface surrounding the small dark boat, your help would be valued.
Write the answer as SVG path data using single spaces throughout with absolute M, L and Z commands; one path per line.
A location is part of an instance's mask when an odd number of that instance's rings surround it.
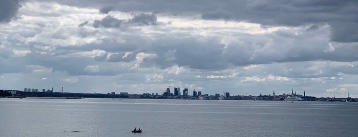
M 0 99 L 0 136 L 357 135 L 354 102 Z

